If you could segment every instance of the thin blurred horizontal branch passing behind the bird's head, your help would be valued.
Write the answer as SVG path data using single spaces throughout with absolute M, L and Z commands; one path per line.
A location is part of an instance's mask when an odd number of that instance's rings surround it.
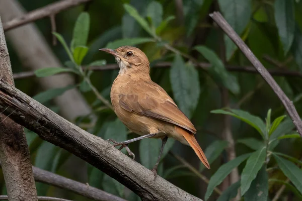
M 159 62 L 156 64 L 151 64 L 151 67 L 152 68 L 170 68 L 171 65 L 172 65 L 171 62 Z M 211 66 L 210 63 L 203 63 L 203 62 L 200 62 L 198 65 L 195 65 L 196 68 L 203 68 L 204 70 L 207 70 L 210 66 Z M 84 67 L 84 68 L 86 68 L 86 67 Z M 114 69 L 118 69 L 118 65 L 117 64 L 107 64 L 104 66 L 90 66 L 88 68 L 90 70 L 95 70 L 95 71 L 114 70 Z M 252 66 L 226 65 L 225 68 L 226 68 L 226 70 L 229 70 L 231 72 L 245 72 L 245 73 L 258 74 L 258 71 Z M 302 73 L 297 72 L 297 71 L 279 70 L 279 69 L 269 69 L 268 71 L 270 74 L 275 75 L 275 76 L 288 76 L 288 77 L 301 77 L 302 78 Z M 14 79 L 22 79 L 22 78 L 28 78 L 28 77 L 34 77 L 34 76 L 35 76 L 34 71 L 14 73 Z

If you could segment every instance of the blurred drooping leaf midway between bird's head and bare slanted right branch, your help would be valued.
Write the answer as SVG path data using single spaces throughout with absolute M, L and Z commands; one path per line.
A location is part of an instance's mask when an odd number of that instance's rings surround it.
M 195 49 L 211 63 L 211 67 L 208 69 L 208 72 L 213 76 L 213 78 L 228 88 L 232 93 L 238 94 L 240 92 L 240 87 L 237 78 L 225 69 L 222 61 L 215 52 L 205 46 L 195 46 Z

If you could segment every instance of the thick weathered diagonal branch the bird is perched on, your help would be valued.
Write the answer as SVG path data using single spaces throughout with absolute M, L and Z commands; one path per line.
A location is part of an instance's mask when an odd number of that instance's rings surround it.
M 142 200 L 200 200 L 118 151 L 110 143 L 71 124 L 20 90 L 0 80 L 0 110 L 37 133 L 113 177 Z

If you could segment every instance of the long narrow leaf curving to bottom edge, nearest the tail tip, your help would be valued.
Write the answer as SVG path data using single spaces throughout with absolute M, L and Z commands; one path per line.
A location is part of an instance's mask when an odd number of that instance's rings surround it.
M 223 179 L 228 176 L 231 171 L 237 167 L 238 165 L 240 165 L 243 161 L 245 161 L 251 154 L 244 154 L 241 156 L 238 156 L 237 158 L 229 161 L 228 163 L 225 163 L 223 165 L 221 165 L 218 170 L 213 174 L 213 176 L 210 178 L 208 187 L 206 189 L 205 195 L 204 195 L 204 199 L 207 200 L 210 195 L 212 194 L 214 188 L 219 185 Z

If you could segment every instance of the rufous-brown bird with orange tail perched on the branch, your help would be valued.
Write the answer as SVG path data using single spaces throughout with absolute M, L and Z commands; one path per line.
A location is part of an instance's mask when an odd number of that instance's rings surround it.
M 129 155 L 134 154 L 128 144 L 144 139 L 162 140 L 157 163 L 152 168 L 155 178 L 157 168 L 168 138 L 174 138 L 190 146 L 205 167 L 210 169 L 207 158 L 199 146 L 194 128 L 188 117 L 178 108 L 168 93 L 150 78 L 150 66 L 147 56 L 138 48 L 122 46 L 116 49 L 99 49 L 112 54 L 119 66 L 119 73 L 113 81 L 110 99 L 113 110 L 121 122 L 140 137 L 116 142 L 119 150 L 125 148 Z

